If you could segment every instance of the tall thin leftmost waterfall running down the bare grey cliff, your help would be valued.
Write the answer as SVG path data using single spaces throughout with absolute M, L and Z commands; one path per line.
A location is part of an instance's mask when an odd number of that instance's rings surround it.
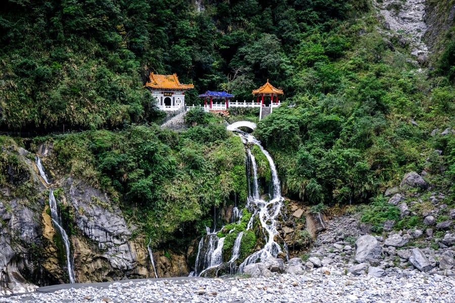
M 41 164 L 41 159 L 38 156 L 35 156 L 35 163 L 36 163 L 36 167 L 38 168 L 39 175 L 44 180 L 46 185 L 49 185 L 48 178 L 46 177 L 46 174 L 44 173 L 44 167 Z M 68 235 L 66 234 L 65 229 L 63 229 L 63 227 L 62 227 L 62 221 L 60 220 L 60 216 L 57 212 L 57 200 L 54 195 L 54 189 L 49 189 L 49 207 L 51 208 L 52 222 L 57 227 L 57 229 L 60 231 L 60 235 L 62 236 L 63 244 L 65 246 L 66 266 L 68 268 L 69 281 L 70 281 L 70 283 L 75 283 L 73 263 L 72 263 L 71 254 L 70 254 L 70 242 L 69 242 L 69 238 L 68 238 Z

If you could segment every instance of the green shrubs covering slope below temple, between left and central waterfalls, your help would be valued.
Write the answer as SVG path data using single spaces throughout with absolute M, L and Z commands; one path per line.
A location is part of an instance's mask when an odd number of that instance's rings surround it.
M 213 207 L 232 204 L 235 196 L 246 200 L 243 143 L 224 126 L 195 126 L 175 135 L 140 125 L 50 140 L 62 169 L 107 191 L 155 244 L 177 241 L 175 233 L 185 239 L 195 228 L 205 231 L 196 222 L 209 223 Z

